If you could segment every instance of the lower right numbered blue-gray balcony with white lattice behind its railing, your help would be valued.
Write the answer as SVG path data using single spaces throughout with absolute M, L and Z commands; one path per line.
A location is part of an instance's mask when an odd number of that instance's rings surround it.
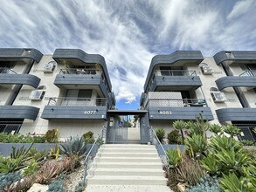
M 213 120 L 205 99 L 149 99 L 145 108 L 150 120 L 196 120 L 199 113 Z

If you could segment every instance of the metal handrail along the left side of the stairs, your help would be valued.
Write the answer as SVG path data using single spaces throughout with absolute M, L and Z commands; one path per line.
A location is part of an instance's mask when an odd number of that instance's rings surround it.
M 93 162 L 94 157 L 96 156 L 98 149 L 100 145 L 97 143 L 100 139 L 102 140 L 104 137 L 104 131 L 106 130 L 106 127 L 102 127 L 100 130 L 100 133 L 98 134 L 97 139 L 93 142 L 93 146 L 90 148 L 89 152 L 86 154 L 86 160 L 85 160 L 85 175 L 84 175 L 84 181 L 83 185 L 86 186 L 86 176 L 87 170 L 90 168 L 91 163 Z

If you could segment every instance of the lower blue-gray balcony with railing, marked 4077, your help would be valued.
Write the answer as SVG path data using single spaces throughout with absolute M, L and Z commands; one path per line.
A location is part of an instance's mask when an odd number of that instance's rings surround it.
M 106 98 L 50 98 L 42 113 L 45 120 L 106 120 Z

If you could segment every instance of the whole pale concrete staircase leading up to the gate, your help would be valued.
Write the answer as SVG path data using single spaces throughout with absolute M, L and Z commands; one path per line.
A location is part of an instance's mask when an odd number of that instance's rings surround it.
M 155 146 L 105 144 L 88 170 L 86 191 L 170 191 L 166 183 Z

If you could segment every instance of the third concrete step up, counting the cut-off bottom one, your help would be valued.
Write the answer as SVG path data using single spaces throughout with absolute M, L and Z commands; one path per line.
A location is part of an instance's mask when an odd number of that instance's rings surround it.
M 161 169 L 144 168 L 90 168 L 89 175 L 137 175 L 137 176 L 164 176 Z

